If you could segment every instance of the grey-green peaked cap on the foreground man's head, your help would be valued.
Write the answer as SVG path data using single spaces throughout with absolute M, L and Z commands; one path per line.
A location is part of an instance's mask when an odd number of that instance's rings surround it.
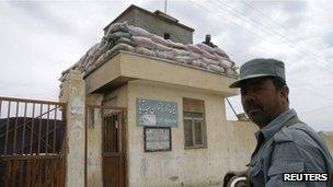
M 262 77 L 276 77 L 286 81 L 284 62 L 264 58 L 246 61 L 240 69 L 239 80 L 230 84 L 229 87 L 240 87 L 242 82 Z

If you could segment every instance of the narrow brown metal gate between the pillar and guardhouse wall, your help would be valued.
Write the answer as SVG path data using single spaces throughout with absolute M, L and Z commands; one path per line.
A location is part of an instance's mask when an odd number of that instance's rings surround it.
M 87 112 L 102 109 L 102 174 L 104 187 L 126 185 L 125 108 L 88 105 Z

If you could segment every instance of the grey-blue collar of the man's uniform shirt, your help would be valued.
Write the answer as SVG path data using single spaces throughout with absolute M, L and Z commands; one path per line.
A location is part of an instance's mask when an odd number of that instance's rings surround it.
M 266 127 L 255 132 L 255 138 L 259 140 L 260 135 L 266 140 L 271 139 L 291 117 L 297 116 L 294 109 L 287 109 L 272 120 Z

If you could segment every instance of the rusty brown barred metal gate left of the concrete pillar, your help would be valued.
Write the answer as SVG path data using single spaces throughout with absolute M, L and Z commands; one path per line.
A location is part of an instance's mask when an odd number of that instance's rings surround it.
M 0 97 L 0 186 L 65 186 L 66 104 Z

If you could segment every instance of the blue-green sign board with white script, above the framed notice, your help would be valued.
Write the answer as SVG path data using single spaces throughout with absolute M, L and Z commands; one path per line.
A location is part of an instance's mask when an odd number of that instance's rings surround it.
M 175 102 L 137 98 L 137 125 L 177 127 L 179 110 Z

